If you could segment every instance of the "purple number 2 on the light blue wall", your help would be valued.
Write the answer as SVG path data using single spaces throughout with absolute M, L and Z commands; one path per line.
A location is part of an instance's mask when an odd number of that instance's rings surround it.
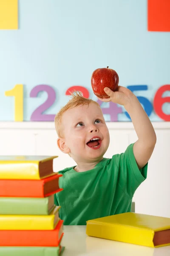
M 35 86 L 30 93 L 30 97 L 37 97 L 40 91 L 45 91 L 48 94 L 48 98 L 42 105 L 40 105 L 31 115 L 31 121 L 53 121 L 55 115 L 54 114 L 42 114 L 45 110 L 50 108 L 56 99 L 55 90 L 47 85 L 40 84 Z

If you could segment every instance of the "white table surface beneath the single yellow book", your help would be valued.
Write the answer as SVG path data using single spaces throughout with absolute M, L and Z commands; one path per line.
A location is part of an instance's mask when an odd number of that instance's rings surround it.
M 87 236 L 86 226 L 64 226 L 62 256 L 170 256 L 170 246 L 151 248 Z

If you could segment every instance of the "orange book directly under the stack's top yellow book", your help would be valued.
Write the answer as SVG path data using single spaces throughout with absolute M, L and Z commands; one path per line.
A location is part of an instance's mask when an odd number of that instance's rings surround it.
M 61 191 L 59 177 L 61 174 L 42 180 L 0 180 L 0 197 L 34 197 L 44 198 Z

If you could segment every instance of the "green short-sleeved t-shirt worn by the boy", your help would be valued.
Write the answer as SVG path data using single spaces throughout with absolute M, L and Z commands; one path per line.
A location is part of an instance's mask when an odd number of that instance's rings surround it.
M 54 197 L 65 225 L 86 225 L 90 219 L 130 212 L 133 194 L 147 177 L 147 164 L 139 170 L 133 144 L 87 172 L 76 172 L 74 167 L 59 172 L 63 190 Z

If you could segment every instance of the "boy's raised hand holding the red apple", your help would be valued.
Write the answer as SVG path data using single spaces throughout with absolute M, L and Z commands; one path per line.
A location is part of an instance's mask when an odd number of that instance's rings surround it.
M 105 87 L 104 91 L 108 96 L 110 96 L 110 98 L 101 99 L 98 97 L 98 99 L 102 102 L 112 101 L 113 103 L 124 106 L 127 105 L 133 97 L 135 97 L 135 95 L 129 89 L 123 86 L 118 86 L 115 92 L 108 87 Z

